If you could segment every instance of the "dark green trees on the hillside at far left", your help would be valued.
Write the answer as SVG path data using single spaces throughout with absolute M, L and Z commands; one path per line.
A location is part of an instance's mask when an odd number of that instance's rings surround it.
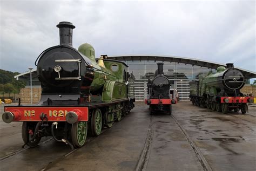
M 25 87 L 25 81 L 16 80 L 14 76 L 18 72 L 10 72 L 0 69 L 0 92 L 4 93 L 18 93 L 21 88 Z

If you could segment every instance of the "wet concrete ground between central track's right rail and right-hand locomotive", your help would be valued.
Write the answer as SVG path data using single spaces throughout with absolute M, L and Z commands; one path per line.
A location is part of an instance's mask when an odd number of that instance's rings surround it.
M 248 107 L 249 113 L 244 115 L 183 104 L 176 108 L 176 118 L 213 170 L 255 170 L 256 107 Z

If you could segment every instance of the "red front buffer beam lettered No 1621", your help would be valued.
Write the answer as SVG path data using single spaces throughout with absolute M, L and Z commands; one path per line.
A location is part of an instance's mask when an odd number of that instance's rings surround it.
M 41 113 L 47 115 L 48 121 L 66 121 L 66 113 L 73 110 L 82 112 L 79 121 L 88 121 L 88 107 L 4 107 L 5 112 L 19 113 L 18 120 L 14 121 L 41 121 Z

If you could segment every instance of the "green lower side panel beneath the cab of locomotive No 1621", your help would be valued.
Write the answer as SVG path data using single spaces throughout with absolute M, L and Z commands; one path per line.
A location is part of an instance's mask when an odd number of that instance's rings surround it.
M 126 85 L 117 81 L 107 81 L 103 88 L 102 101 L 116 101 L 126 98 Z

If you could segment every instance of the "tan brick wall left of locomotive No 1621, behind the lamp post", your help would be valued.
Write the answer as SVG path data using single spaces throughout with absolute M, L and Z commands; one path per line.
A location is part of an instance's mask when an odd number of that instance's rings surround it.
M 32 88 L 32 103 L 37 104 L 41 99 L 41 87 L 33 87 Z M 29 103 L 31 102 L 30 99 L 30 88 L 22 88 L 19 92 L 19 98 L 21 98 L 21 103 Z

